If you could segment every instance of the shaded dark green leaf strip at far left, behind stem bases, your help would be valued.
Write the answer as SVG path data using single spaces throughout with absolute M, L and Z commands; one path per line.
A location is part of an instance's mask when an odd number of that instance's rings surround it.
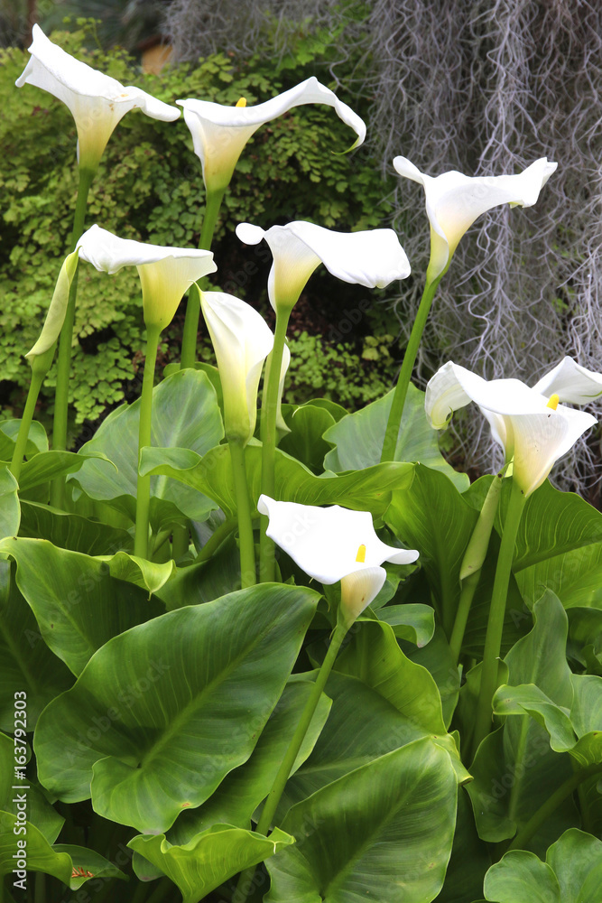
M 127 552 L 134 545 L 133 537 L 118 527 L 24 499 L 21 501 L 19 535 L 26 539 L 48 539 L 61 549 L 88 555 Z

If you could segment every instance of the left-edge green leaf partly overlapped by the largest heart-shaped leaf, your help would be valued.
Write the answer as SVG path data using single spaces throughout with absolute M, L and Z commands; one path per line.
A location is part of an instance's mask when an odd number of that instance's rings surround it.
M 74 675 L 108 639 L 163 612 L 159 600 L 88 555 L 43 539 L 5 539 L 0 551 L 16 561 L 17 586 L 44 641 Z

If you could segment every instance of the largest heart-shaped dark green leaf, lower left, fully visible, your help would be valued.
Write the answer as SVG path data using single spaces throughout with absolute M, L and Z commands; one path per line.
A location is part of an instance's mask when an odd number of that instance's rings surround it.
M 92 656 L 43 712 L 44 787 L 161 833 L 241 765 L 277 703 L 320 596 L 263 585 L 171 611 Z

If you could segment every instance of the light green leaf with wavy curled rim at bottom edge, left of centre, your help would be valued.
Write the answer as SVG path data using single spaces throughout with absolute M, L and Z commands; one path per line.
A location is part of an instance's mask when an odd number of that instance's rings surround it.
M 237 872 L 257 865 L 293 842 L 280 828 L 267 838 L 230 824 L 214 824 L 185 846 L 171 845 L 164 834 L 138 835 L 127 845 L 178 885 L 183 903 L 198 903 Z

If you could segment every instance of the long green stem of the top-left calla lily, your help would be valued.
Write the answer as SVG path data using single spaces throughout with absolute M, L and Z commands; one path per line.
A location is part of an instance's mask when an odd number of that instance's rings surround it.
M 79 169 L 78 200 L 75 205 L 73 228 L 69 242 L 69 254 L 75 250 L 86 219 L 88 191 L 94 180 L 96 169 Z M 54 421 L 52 424 L 52 448 L 64 451 L 67 448 L 67 412 L 69 406 L 69 375 L 71 370 L 71 344 L 75 323 L 75 303 L 78 297 L 78 269 L 73 275 L 69 290 L 69 303 L 60 330 L 59 358 L 57 361 L 57 385 L 54 393 Z M 62 507 L 65 496 L 65 478 L 59 477 L 51 483 L 51 505 Z

